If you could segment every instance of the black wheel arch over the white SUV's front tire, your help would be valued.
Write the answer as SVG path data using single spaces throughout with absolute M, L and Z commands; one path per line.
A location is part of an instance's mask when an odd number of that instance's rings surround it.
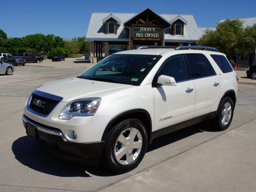
M 143 125 L 145 125 L 147 134 L 148 134 L 148 141 L 150 143 L 152 141 L 152 120 L 151 120 L 150 114 L 145 109 L 132 109 L 115 116 L 115 118 L 113 118 L 109 122 L 106 129 L 104 130 L 101 140 L 105 141 L 107 138 L 108 132 L 111 130 L 111 128 L 114 125 L 118 124 L 118 122 L 125 120 L 127 118 L 136 118 L 140 120 L 143 123 Z

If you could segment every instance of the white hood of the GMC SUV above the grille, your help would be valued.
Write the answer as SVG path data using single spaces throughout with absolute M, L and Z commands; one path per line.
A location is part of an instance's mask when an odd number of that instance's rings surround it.
M 36 88 L 36 90 L 63 97 L 62 102 L 70 102 L 88 97 L 104 97 L 104 95 L 120 92 L 120 90 L 129 87 L 131 88 L 132 85 L 93 81 L 75 77 L 47 83 Z

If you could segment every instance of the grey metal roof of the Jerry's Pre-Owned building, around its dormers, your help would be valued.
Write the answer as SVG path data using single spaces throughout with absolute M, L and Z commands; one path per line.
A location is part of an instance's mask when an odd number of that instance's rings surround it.
M 103 20 L 113 15 L 120 20 L 116 34 L 106 34 L 106 27 Z M 89 42 L 100 41 L 129 41 L 129 29 L 124 27 L 124 23 L 130 20 L 138 13 L 92 13 L 90 24 L 88 27 L 86 40 Z M 178 14 L 158 14 L 168 22 L 175 20 L 177 17 L 186 20 L 184 24 L 184 35 L 172 35 L 170 28 L 164 31 L 165 42 L 196 42 L 202 36 L 201 31 L 195 22 L 193 15 L 178 15 Z

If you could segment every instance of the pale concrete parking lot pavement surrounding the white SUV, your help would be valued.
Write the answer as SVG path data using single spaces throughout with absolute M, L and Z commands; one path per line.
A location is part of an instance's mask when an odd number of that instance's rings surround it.
M 0 191 L 256 191 L 256 81 L 237 70 L 239 97 L 227 131 L 209 122 L 157 138 L 122 175 L 53 157 L 26 136 L 21 116 L 36 86 L 77 76 L 88 61 L 43 61 L 0 76 Z

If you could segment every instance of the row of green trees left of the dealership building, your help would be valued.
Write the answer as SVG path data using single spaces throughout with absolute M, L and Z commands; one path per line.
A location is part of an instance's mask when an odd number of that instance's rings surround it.
M 90 52 L 90 43 L 85 42 L 85 36 L 63 40 L 60 36 L 45 36 L 40 33 L 22 38 L 7 38 L 6 33 L 0 29 L 0 52 L 31 52 L 36 55 L 44 54 L 49 58 L 63 54 L 68 57 L 70 54 Z

